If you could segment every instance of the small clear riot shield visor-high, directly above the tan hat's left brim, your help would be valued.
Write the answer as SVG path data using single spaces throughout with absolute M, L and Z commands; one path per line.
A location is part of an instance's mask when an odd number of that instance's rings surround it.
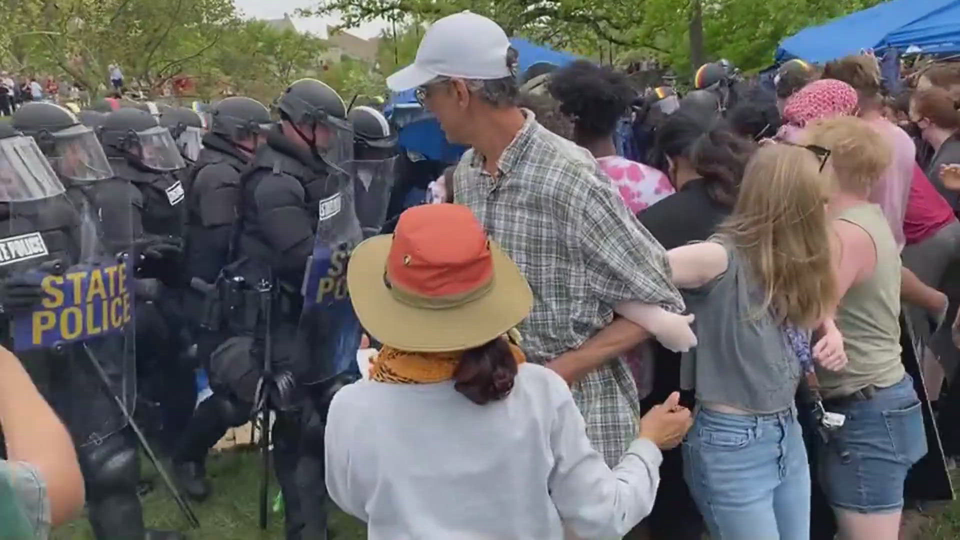
M 354 160 L 353 205 L 364 239 L 379 234 L 387 217 L 387 205 L 396 181 L 399 156 L 388 160 Z

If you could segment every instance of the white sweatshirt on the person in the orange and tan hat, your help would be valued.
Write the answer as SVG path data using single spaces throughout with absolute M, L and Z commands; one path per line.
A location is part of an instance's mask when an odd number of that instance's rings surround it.
M 662 459 L 638 439 L 611 471 L 564 380 L 529 363 L 488 405 L 452 381 L 351 384 L 325 450 L 330 497 L 371 540 L 620 538 L 650 513 Z

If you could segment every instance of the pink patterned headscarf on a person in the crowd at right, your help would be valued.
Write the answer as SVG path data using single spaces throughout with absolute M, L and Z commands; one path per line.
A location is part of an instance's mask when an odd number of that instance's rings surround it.
M 856 103 L 853 86 L 835 79 L 814 81 L 787 98 L 783 106 L 783 125 L 777 137 L 795 142 L 807 123 L 833 116 L 850 116 L 856 112 Z

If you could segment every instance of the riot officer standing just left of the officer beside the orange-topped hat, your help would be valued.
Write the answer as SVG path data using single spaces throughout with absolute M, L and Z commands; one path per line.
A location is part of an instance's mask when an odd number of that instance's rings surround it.
M 185 311 L 197 357 L 207 368 L 213 349 L 227 336 L 204 319 L 211 286 L 228 264 L 240 202 L 240 175 L 269 130 L 270 111 L 248 97 L 228 97 L 212 111 L 204 149 L 186 182 L 186 274 L 192 281 Z M 207 371 L 210 371 L 207 369 Z M 250 420 L 252 404 L 212 380 L 213 395 L 194 411 L 174 454 L 174 472 L 184 491 L 197 500 L 209 494 L 204 460 L 228 428 Z

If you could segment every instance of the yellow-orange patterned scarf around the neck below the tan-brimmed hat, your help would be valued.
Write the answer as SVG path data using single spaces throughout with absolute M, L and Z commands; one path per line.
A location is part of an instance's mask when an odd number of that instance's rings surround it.
M 526 361 L 523 351 L 510 344 L 516 363 Z M 407 353 L 384 345 L 370 360 L 370 379 L 397 384 L 429 384 L 453 379 L 463 351 L 454 353 Z

